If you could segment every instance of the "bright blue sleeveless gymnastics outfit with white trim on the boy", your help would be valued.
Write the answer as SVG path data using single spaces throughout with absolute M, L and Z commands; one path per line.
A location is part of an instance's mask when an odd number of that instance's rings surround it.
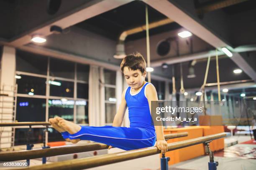
M 61 133 L 63 138 L 92 140 L 123 150 L 133 150 L 154 146 L 156 132 L 151 118 L 145 88 L 146 82 L 136 94 L 131 87 L 125 91 L 125 100 L 129 111 L 130 128 L 113 126 L 81 126 L 75 134 Z

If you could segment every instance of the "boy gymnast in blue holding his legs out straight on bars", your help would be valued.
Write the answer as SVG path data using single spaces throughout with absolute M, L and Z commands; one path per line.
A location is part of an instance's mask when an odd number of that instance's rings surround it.
M 63 138 L 77 143 L 92 140 L 123 150 L 133 150 L 156 145 L 161 153 L 167 151 L 163 126 L 154 126 L 151 118 L 151 101 L 158 100 L 155 87 L 145 81 L 146 62 L 142 55 L 127 55 L 121 62 L 121 70 L 128 88 L 123 91 L 121 104 L 113 121 L 113 126 L 79 126 L 61 117 L 49 119 L 52 127 Z M 128 107 L 130 128 L 120 127 Z

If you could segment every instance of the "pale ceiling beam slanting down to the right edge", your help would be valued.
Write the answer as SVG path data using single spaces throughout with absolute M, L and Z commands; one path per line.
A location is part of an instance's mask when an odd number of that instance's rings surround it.
M 179 25 L 182 25 L 185 29 L 192 32 L 197 37 L 212 45 L 213 47 L 220 49 L 221 47 L 230 47 L 228 42 L 225 42 L 212 30 L 207 28 L 206 25 L 200 22 L 197 18 L 193 17 L 192 14 L 185 10 L 182 10 L 177 2 L 174 0 L 143 0 L 146 4 L 150 5 L 154 9 L 158 10 L 160 13 L 166 15 L 171 20 L 174 20 Z M 232 51 L 233 52 L 233 51 Z M 239 53 L 234 53 L 233 57 L 230 57 L 241 69 L 243 69 L 246 74 L 256 81 L 256 72 L 253 70 L 251 65 L 244 60 L 244 58 Z M 196 56 L 195 56 L 196 57 Z

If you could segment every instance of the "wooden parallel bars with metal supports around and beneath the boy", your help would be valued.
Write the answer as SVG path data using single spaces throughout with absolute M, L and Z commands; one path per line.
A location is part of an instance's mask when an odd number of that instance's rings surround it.
M 45 125 L 46 129 L 49 128 L 48 122 L 13 122 L 13 123 L 0 123 L 0 127 L 3 126 L 23 126 L 28 125 L 30 128 L 32 125 Z M 45 130 L 46 133 L 47 130 Z M 172 138 L 180 138 L 187 136 L 188 133 L 176 133 L 176 134 L 169 134 L 165 135 L 165 139 L 169 140 Z M 189 147 L 192 145 L 197 145 L 200 143 L 205 144 L 205 151 L 207 154 L 210 155 L 210 162 L 208 163 L 209 170 L 217 170 L 218 162 L 214 161 L 213 153 L 209 148 L 209 143 L 212 140 L 216 140 L 219 138 L 223 138 L 226 136 L 226 133 L 219 133 L 215 135 L 209 135 L 205 137 L 184 140 L 181 142 L 170 143 L 168 144 L 168 151 L 177 150 L 180 148 Z M 29 140 L 28 140 L 29 141 Z M 27 145 L 31 145 L 28 143 Z M 86 152 L 92 150 L 102 150 L 107 149 L 108 145 L 100 144 L 100 143 L 93 143 L 89 145 L 75 145 L 65 148 L 49 148 L 45 144 L 44 139 L 44 146 L 41 150 L 32 150 L 32 147 L 29 148 L 31 150 L 26 151 L 16 151 L 16 152 L 9 152 L 9 153 L 0 153 L 0 160 L 2 161 L 14 161 L 14 160 L 24 160 L 26 159 L 29 161 L 30 159 L 34 158 L 46 158 L 49 156 L 54 155 L 64 155 L 69 153 L 79 153 L 79 152 Z M 27 148 L 28 149 L 28 148 Z M 113 154 L 106 154 L 106 155 L 98 155 L 88 158 L 80 158 L 76 160 L 67 160 L 58 163 L 51 163 L 45 164 L 46 159 L 43 159 L 44 165 L 33 166 L 31 168 L 25 168 L 25 170 L 80 170 L 86 168 L 93 168 L 101 165 L 108 165 L 111 163 L 118 163 L 125 160 L 132 160 L 136 158 L 142 158 L 149 155 L 155 155 L 161 153 L 161 150 L 158 150 L 156 147 L 149 147 L 149 148 L 142 148 L 137 150 L 130 150 L 124 151 L 121 153 L 113 153 Z M 168 170 L 168 161 L 170 160 L 169 157 L 165 157 L 165 154 L 162 154 L 161 158 L 161 170 Z

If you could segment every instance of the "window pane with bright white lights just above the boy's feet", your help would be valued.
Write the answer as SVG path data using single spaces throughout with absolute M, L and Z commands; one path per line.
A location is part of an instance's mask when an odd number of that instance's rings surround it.
M 49 99 L 48 103 L 49 118 L 59 116 L 69 121 L 74 120 L 74 100 Z

